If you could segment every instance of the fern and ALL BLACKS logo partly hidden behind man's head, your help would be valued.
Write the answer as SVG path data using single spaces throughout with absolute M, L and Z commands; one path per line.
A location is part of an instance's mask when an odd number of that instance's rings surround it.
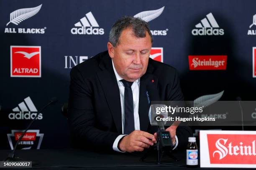
M 157 10 L 148 10 L 148 11 L 140 12 L 134 15 L 133 17 L 141 18 L 142 20 L 149 22 L 159 17 L 163 13 L 163 11 L 164 11 L 164 6 Z M 167 35 L 168 30 L 169 29 L 167 28 L 165 30 L 150 30 L 150 32 L 152 35 Z

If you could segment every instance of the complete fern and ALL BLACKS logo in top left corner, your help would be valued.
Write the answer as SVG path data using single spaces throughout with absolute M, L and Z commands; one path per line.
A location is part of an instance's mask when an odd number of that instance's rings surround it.
M 36 15 L 43 4 L 37 7 L 21 8 L 10 13 L 10 20 L 6 26 L 12 24 L 19 25 L 24 20 Z M 12 23 L 12 24 L 11 24 Z M 44 34 L 46 27 L 44 28 L 5 28 L 5 33 L 31 33 L 31 34 Z

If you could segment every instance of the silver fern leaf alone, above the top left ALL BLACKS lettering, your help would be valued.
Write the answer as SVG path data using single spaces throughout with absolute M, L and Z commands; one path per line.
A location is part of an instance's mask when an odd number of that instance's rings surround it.
M 13 11 L 12 13 L 10 13 L 10 22 L 7 23 L 6 26 L 8 26 L 10 23 L 18 25 L 23 20 L 33 17 L 39 12 L 41 7 L 42 4 L 37 7 L 23 8 Z

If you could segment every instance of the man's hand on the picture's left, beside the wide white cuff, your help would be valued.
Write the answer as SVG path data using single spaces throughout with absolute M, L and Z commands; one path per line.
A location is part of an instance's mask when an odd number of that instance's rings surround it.
M 134 130 L 129 135 L 123 137 L 118 146 L 122 151 L 131 153 L 134 151 L 143 151 L 144 148 L 149 148 L 154 143 L 156 143 L 154 135 L 141 130 Z

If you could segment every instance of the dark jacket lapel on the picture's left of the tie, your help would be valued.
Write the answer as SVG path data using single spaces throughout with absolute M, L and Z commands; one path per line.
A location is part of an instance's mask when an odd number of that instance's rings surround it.
M 100 80 L 116 129 L 118 133 L 122 133 L 122 113 L 118 83 L 113 70 L 111 58 L 108 55 L 102 57 L 102 62 L 99 65 L 102 71 L 97 72 L 97 76 Z

